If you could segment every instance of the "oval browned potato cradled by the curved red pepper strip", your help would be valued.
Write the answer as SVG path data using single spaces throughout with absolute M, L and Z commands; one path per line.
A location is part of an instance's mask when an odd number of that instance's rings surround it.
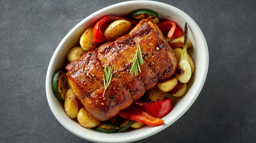
M 126 20 L 117 20 L 111 23 L 104 32 L 108 41 L 114 41 L 118 37 L 127 34 L 132 29 L 132 24 Z

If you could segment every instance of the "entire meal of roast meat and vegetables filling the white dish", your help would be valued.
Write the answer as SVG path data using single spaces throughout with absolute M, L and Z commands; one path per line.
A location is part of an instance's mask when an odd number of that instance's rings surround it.
M 191 43 L 171 20 L 150 9 L 110 15 L 88 28 L 69 64 L 53 75 L 53 93 L 68 117 L 103 133 L 157 126 L 195 70 Z M 183 49 L 182 49 L 182 48 Z

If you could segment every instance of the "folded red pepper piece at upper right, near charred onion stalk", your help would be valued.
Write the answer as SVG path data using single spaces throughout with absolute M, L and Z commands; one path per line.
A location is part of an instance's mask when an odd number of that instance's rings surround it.
M 162 31 L 163 35 L 168 36 L 168 38 L 178 38 L 183 35 L 181 29 L 176 26 L 175 21 L 163 21 L 158 23 L 157 26 Z

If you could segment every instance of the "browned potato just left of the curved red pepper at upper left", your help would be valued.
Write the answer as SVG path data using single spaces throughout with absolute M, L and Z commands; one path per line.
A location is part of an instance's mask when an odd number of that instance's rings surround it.
M 96 48 L 98 43 L 93 40 L 93 27 L 86 29 L 80 38 L 80 45 L 85 51 L 91 51 Z

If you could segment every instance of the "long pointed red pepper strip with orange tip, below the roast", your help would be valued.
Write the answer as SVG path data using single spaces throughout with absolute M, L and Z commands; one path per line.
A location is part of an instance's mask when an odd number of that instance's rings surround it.
M 119 112 L 118 116 L 125 119 L 139 121 L 150 126 L 157 126 L 163 123 L 162 119 L 152 117 L 134 105 L 130 105 L 128 108 Z

